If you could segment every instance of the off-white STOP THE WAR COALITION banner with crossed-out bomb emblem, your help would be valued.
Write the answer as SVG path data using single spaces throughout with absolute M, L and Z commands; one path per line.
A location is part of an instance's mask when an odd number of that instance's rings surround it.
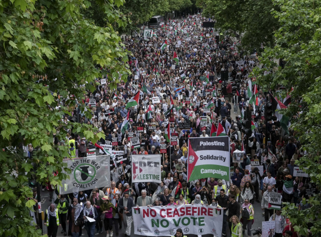
M 63 162 L 71 169 L 71 174 L 69 179 L 62 180 L 61 194 L 101 188 L 110 184 L 109 155 L 92 156 L 90 159 L 64 159 Z

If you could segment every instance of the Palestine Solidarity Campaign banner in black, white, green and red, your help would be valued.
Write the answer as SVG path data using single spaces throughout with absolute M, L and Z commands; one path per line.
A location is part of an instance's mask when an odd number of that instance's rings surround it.
M 209 177 L 230 180 L 228 136 L 188 139 L 187 182 Z

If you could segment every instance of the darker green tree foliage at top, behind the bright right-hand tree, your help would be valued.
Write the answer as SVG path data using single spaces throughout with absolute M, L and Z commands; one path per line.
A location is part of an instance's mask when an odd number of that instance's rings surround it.
M 278 28 L 277 19 L 271 11 L 277 10 L 272 0 L 197 0 L 197 6 L 203 9 L 203 16 L 214 16 L 215 28 L 221 31 L 238 31 L 242 47 L 250 53 L 256 48 L 273 45 L 273 31 Z

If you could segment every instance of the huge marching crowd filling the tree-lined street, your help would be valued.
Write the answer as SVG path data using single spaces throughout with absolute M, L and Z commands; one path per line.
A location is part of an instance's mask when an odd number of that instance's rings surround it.
M 116 90 L 110 90 L 108 82 L 97 86 L 75 108 L 79 114 L 79 107 L 90 105 L 92 117 L 80 114 L 79 122 L 102 131 L 105 139 L 99 141 L 101 144 L 117 138 L 114 149 L 129 157 L 160 154 L 160 147 L 165 144 L 166 151 L 161 153 L 161 183 L 131 183 L 131 167 L 124 164 L 124 169 L 111 171 L 112 182 L 106 187 L 58 194 L 46 210 L 48 236 L 55 237 L 59 225 L 65 236 L 82 235 L 82 226 L 89 237 L 104 231 L 106 237 L 113 237 L 114 233 L 118 236 L 122 228 L 130 236 L 132 207 L 186 204 L 221 207 L 223 236 L 227 235 L 227 228 L 232 237 L 242 236 L 245 230 L 251 236 L 254 211 L 261 212 L 254 210 L 255 201 L 261 202 L 265 221 L 275 220 L 276 237 L 296 236 L 281 212 L 273 215 L 268 208 L 268 194 L 282 193 L 283 201 L 294 202 L 300 209 L 309 208 L 302 199 L 311 196 L 306 190 L 314 188 L 314 184 L 309 178 L 294 176 L 295 160 L 303 155 L 301 144 L 290 127 L 282 130 L 276 117 L 268 121 L 266 129 L 264 109 L 270 97 L 259 86 L 256 101 L 248 102 L 256 93 L 247 89 L 250 83 L 255 85 L 249 74 L 257 65 L 256 59 L 239 52 L 232 38 L 202 28 L 202 21 L 212 20 L 193 15 L 165 22 L 150 38 L 143 33 L 135 38 L 124 37 L 126 49 L 133 53 L 127 62 L 132 75 L 120 82 Z M 162 47 L 164 43 L 166 46 Z M 226 80 L 221 76 L 224 72 L 228 74 Z M 139 100 L 129 106 L 137 94 Z M 90 103 L 93 99 L 95 104 Z M 236 114 L 247 107 L 253 111 L 255 128 L 246 140 L 242 121 L 251 118 Z M 68 117 L 64 119 L 69 122 Z M 213 135 L 213 126 L 215 131 L 222 126 L 230 136 L 231 179 L 209 177 L 187 182 L 188 139 Z M 80 135 L 68 132 L 65 141 L 56 142 L 68 145 L 71 156 L 76 156 L 76 149 L 79 157 L 86 156 L 91 145 Z M 176 137 L 174 143 L 168 139 L 169 134 Z M 139 149 L 132 146 L 133 137 L 139 137 Z M 235 150 L 244 151 L 243 162 L 232 163 Z M 256 165 L 251 166 L 252 161 Z M 183 236 L 182 230 L 178 229 L 175 236 Z

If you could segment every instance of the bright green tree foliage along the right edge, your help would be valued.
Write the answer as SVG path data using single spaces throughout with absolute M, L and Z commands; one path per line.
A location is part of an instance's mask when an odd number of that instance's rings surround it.
M 321 140 L 321 1 L 274 0 L 280 11 L 273 11 L 279 21 L 279 29 L 275 31 L 273 47 L 266 48 L 262 53 L 261 62 L 266 69 L 274 71 L 267 76 L 259 76 L 258 83 L 265 90 L 272 87 L 284 98 L 291 95 L 291 104 L 283 111 L 291 119 L 294 136 L 303 144 L 302 150 L 307 155 L 296 161 L 301 168 L 307 168 L 311 181 L 320 188 L 320 140 Z M 275 62 L 282 59 L 282 67 Z M 256 75 L 262 71 L 256 70 Z M 320 190 L 320 189 L 319 189 Z M 311 208 L 298 210 L 294 204 L 286 205 L 284 213 L 290 217 L 295 231 L 303 236 L 308 233 L 308 223 L 313 223 L 312 236 L 320 236 L 321 197 L 317 194 L 308 202 Z

